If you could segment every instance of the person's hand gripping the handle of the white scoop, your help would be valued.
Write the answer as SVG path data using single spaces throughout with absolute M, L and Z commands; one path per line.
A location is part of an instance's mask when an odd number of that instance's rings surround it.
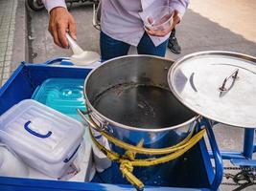
M 77 39 L 77 25 L 73 16 L 65 8 L 57 7 L 50 12 L 49 28 L 54 37 L 55 44 L 62 48 L 68 48 L 66 32 L 69 32 L 73 39 Z

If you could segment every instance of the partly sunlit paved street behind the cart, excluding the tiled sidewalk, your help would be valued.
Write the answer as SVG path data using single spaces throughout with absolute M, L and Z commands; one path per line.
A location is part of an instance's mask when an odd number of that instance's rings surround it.
M 222 5 L 221 0 L 191 1 L 190 9 L 177 27 L 181 54 L 168 51 L 166 57 L 176 59 L 188 53 L 208 50 L 233 51 L 256 55 L 256 3 L 251 0 L 235 1 Z M 247 3 L 245 3 L 247 2 Z M 211 9 L 217 11 L 211 11 Z M 99 32 L 92 27 L 92 6 L 75 4 L 71 10 L 78 23 L 78 42 L 84 50 L 99 53 Z M 69 56 L 69 50 L 54 45 L 47 32 L 46 11 L 30 12 L 33 32 L 33 61 L 43 62 L 53 56 Z M 255 19 L 253 19 L 255 18 Z M 44 29 L 44 30 L 43 30 Z M 131 50 L 130 53 L 136 53 Z

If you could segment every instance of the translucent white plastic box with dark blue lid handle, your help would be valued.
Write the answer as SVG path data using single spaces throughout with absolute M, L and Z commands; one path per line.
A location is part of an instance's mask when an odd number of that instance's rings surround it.
M 28 165 L 59 178 L 77 156 L 81 122 L 33 100 L 12 106 L 0 117 L 0 139 Z

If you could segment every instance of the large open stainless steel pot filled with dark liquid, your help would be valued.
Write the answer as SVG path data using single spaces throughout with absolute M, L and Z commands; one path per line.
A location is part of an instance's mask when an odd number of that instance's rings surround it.
M 106 61 L 87 75 L 84 97 L 90 117 L 103 131 L 136 145 L 162 148 L 176 144 L 196 125 L 198 115 L 169 89 L 173 61 L 128 55 Z M 110 144 L 110 148 L 123 153 Z

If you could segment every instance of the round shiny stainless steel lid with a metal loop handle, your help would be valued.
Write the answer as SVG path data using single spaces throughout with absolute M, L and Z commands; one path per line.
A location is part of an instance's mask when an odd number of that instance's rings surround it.
M 241 53 L 201 52 L 178 59 L 168 73 L 176 98 L 203 117 L 256 127 L 256 58 Z

